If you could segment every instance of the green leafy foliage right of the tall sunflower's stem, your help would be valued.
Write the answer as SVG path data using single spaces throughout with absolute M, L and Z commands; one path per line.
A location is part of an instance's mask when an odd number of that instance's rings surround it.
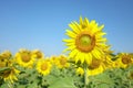
M 133 72 L 133 66 L 126 69 L 105 70 L 103 74 L 90 77 L 89 88 L 133 88 L 131 72 Z

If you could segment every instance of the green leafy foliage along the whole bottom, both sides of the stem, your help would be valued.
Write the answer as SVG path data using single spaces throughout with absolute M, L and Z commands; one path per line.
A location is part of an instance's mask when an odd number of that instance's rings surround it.
M 0 73 L 9 68 L 0 69 Z M 13 84 L 0 79 L 0 88 L 83 88 L 83 76 L 75 75 L 74 67 L 59 69 L 55 66 L 48 76 L 40 75 L 34 68 L 18 67 L 21 70 Z M 108 69 L 90 76 L 88 88 L 133 88 L 133 66 Z

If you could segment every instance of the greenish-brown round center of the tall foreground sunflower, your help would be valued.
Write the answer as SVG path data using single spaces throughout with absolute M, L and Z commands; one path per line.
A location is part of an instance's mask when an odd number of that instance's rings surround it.
M 90 35 L 89 32 L 84 31 L 76 36 L 75 46 L 81 52 L 89 53 L 90 51 L 93 50 L 94 45 L 95 45 L 95 37 Z

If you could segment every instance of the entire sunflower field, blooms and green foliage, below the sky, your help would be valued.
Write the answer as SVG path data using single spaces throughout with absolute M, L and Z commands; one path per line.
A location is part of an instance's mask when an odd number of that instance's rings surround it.
M 86 18 L 69 24 L 66 48 L 0 53 L 0 88 L 133 88 L 133 53 L 111 51 L 104 25 Z

